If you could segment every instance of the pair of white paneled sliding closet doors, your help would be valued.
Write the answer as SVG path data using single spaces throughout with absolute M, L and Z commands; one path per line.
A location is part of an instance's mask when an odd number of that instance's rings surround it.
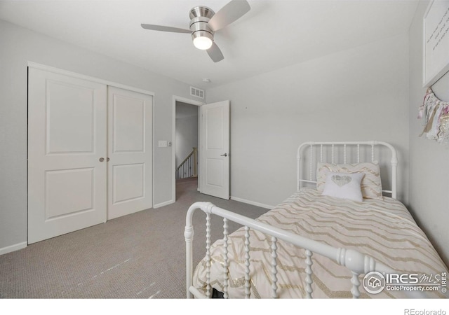
M 28 66 L 28 244 L 152 207 L 153 94 Z

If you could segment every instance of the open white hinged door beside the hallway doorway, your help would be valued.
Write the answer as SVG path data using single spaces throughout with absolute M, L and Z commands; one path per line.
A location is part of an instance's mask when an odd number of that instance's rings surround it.
M 229 101 L 201 106 L 201 193 L 229 199 Z

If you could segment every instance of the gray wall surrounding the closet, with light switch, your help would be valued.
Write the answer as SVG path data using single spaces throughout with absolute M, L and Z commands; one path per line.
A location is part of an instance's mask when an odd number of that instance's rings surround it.
M 27 241 L 27 62 L 154 92 L 154 141 L 173 141 L 173 94 L 189 85 L 0 20 L 0 251 Z M 172 147 L 154 146 L 154 204 L 172 200 Z

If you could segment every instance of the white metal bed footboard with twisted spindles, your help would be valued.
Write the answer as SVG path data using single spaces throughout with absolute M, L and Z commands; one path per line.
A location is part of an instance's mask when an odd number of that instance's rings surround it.
M 193 214 L 196 210 L 201 209 L 206 214 L 206 266 L 208 267 L 208 272 L 206 275 L 206 295 L 201 293 L 198 289 L 193 286 L 193 248 L 192 242 L 194 240 L 194 228 L 192 225 Z M 358 251 L 354 251 L 352 249 L 345 248 L 334 248 L 333 246 L 329 246 L 328 244 L 323 244 L 319 241 L 314 241 L 312 239 L 307 239 L 305 237 L 301 237 L 300 235 L 296 235 L 292 232 L 288 232 L 286 230 L 282 230 L 280 228 L 276 228 L 265 223 L 255 221 L 252 218 L 247 218 L 246 216 L 241 216 L 240 214 L 235 214 L 232 211 L 228 211 L 222 209 L 220 207 L 216 207 L 214 204 L 210 202 L 196 202 L 189 207 L 186 216 L 186 226 L 185 226 L 185 241 L 186 241 L 186 288 L 187 288 L 187 298 L 210 298 L 212 295 L 212 288 L 210 286 L 210 215 L 214 214 L 216 216 L 220 216 L 224 221 L 224 230 L 223 235 L 225 239 L 225 246 L 227 246 L 227 222 L 233 221 L 235 223 L 239 223 L 240 225 L 245 227 L 246 235 L 245 235 L 245 251 L 246 251 L 246 297 L 250 296 L 250 277 L 249 277 L 249 266 L 250 266 L 250 246 L 249 246 L 249 229 L 258 230 L 265 235 L 269 235 L 272 240 L 272 269 L 271 269 L 271 277 L 272 277 L 272 297 L 278 297 L 277 294 L 277 264 L 276 264 L 276 249 L 277 249 L 277 241 L 279 239 L 283 241 L 287 241 L 295 246 L 305 249 L 306 260 L 305 263 L 307 265 L 305 272 L 305 281 L 304 287 L 307 293 L 308 298 L 313 297 L 312 286 L 313 283 L 313 268 L 312 268 L 312 260 L 311 256 L 314 254 L 323 255 L 331 260 L 334 260 L 339 265 L 342 265 L 351 271 L 351 294 L 354 298 L 360 296 L 360 285 L 361 282 L 358 279 L 360 274 L 366 274 L 368 272 L 380 272 L 382 274 L 394 273 L 394 270 L 383 265 L 380 262 L 377 262 L 374 258 L 363 255 Z M 225 257 L 224 260 L 224 270 L 223 274 L 225 275 L 225 287 L 223 289 L 223 295 L 225 298 L 227 295 L 227 248 L 225 248 Z M 410 292 L 410 297 L 426 297 L 424 293 L 420 292 Z

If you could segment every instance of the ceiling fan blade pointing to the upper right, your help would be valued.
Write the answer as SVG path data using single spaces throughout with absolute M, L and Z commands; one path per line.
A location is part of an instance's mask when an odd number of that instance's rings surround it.
M 226 6 L 218 10 L 208 22 L 213 31 L 218 31 L 245 15 L 250 10 L 246 0 L 232 0 Z

